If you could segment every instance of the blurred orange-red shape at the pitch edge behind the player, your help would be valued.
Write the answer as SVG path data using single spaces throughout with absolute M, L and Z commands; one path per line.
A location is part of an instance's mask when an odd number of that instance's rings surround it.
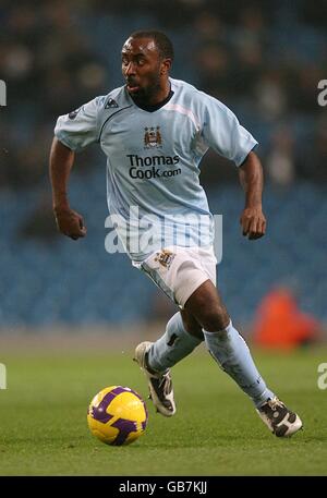
M 293 294 L 284 288 L 269 292 L 262 301 L 254 321 L 256 344 L 292 349 L 317 339 L 319 323 L 298 307 Z

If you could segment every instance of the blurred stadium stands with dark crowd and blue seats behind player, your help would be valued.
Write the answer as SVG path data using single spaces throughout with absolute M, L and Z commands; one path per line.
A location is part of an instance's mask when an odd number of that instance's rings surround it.
M 259 142 L 266 174 L 265 239 L 242 239 L 237 169 L 208 154 L 202 182 L 223 214 L 220 289 L 251 330 L 263 296 L 287 286 L 327 323 L 327 108 L 325 0 L 0 1 L 0 328 L 49 333 L 124 329 L 171 315 L 164 294 L 125 255 L 105 251 L 105 157 L 78 156 L 71 204 L 85 240 L 61 236 L 51 212 L 48 154 L 57 117 L 122 84 L 120 49 L 137 28 L 167 32 L 172 76 L 229 106 Z

